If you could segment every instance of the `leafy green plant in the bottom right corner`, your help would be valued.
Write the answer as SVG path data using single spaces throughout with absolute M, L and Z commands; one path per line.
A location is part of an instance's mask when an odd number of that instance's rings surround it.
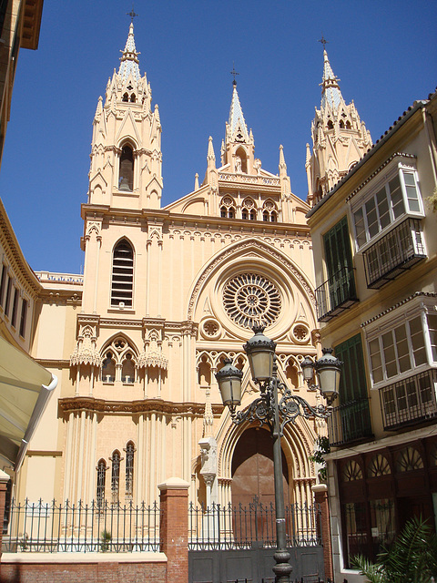
M 365 557 L 352 557 L 368 583 L 430 583 L 437 578 L 437 536 L 422 518 L 406 523 L 391 547 L 383 547 L 376 563 Z

